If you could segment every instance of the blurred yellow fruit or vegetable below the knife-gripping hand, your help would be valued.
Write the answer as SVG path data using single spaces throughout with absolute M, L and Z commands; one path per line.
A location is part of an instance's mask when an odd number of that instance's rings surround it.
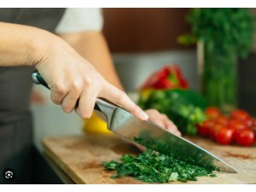
M 107 128 L 107 122 L 101 119 L 95 112 L 92 113 L 90 119 L 84 119 L 83 131 L 91 135 L 112 133 Z

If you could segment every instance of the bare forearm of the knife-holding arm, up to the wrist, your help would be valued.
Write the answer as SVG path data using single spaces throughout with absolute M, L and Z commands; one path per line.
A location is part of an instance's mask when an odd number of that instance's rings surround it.
M 0 22 L 0 66 L 33 65 L 39 60 L 42 38 L 49 32 L 32 26 Z

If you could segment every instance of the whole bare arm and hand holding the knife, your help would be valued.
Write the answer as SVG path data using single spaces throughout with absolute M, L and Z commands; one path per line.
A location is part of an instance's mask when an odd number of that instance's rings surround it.
M 70 113 L 90 118 L 96 97 L 115 102 L 139 119 L 148 119 L 126 94 L 109 84 L 67 42 L 32 26 L 0 22 L 0 66 L 35 66 L 51 90 L 51 99 Z

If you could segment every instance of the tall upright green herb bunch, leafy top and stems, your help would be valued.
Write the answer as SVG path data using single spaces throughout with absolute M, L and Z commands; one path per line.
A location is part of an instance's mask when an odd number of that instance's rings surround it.
M 191 9 L 190 34 L 181 44 L 197 43 L 201 91 L 209 105 L 224 113 L 236 108 L 237 61 L 253 42 L 253 17 L 248 9 Z

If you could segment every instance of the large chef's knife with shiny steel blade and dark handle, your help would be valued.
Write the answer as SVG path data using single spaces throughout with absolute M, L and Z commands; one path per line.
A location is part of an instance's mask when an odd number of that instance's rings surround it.
M 32 73 L 32 82 L 43 84 L 49 88 L 37 71 Z M 217 166 L 221 172 L 237 172 L 235 168 L 214 154 L 209 153 L 206 149 L 189 142 L 183 137 L 177 137 L 149 120 L 137 119 L 112 102 L 97 98 L 94 109 L 106 116 L 110 131 L 132 142 L 142 144 L 162 154 L 175 154 L 181 160 L 194 160 L 197 165 Z

